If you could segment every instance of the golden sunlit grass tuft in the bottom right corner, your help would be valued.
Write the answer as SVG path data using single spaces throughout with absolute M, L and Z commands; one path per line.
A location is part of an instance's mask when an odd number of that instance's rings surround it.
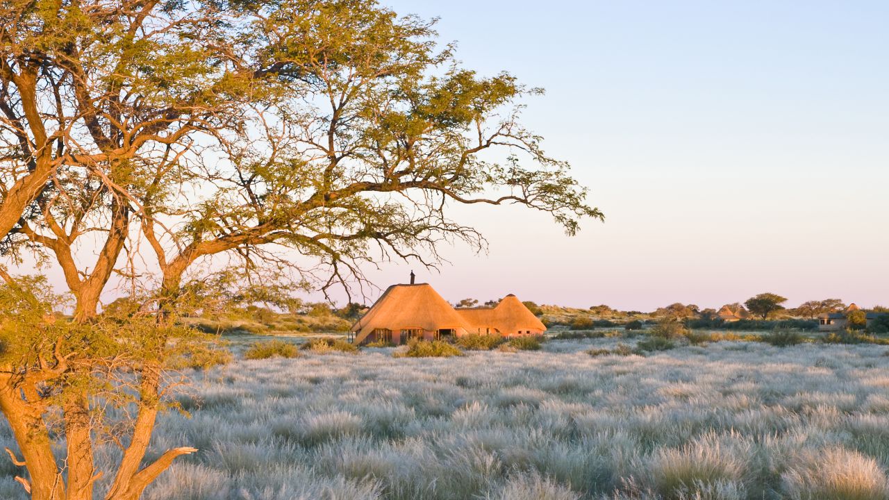
M 794 500 L 885 500 L 889 486 L 879 464 L 844 448 L 807 453 L 781 475 L 781 486 Z

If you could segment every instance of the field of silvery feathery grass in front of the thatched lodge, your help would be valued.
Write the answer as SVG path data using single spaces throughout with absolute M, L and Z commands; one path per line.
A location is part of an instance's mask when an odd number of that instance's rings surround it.
M 254 337 L 250 337 L 255 340 Z M 147 500 L 885 499 L 885 346 L 636 339 L 449 359 L 304 351 L 191 375 Z M 620 351 L 620 350 L 618 350 Z M 0 426 L 0 448 L 12 447 Z M 115 457 L 100 450 L 100 466 Z M 0 498 L 24 498 L 0 464 Z M 99 489 L 105 483 L 100 481 Z M 99 496 L 100 497 L 100 496 Z

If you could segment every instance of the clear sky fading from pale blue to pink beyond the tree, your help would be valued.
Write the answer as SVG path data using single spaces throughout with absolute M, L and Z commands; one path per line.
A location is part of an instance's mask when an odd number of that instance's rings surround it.
M 889 305 L 889 3 L 382 3 L 440 18 L 467 68 L 544 87 L 523 121 L 606 220 L 568 238 L 545 214 L 457 207 L 487 254 L 384 265 L 377 286 L 414 270 L 450 301 Z

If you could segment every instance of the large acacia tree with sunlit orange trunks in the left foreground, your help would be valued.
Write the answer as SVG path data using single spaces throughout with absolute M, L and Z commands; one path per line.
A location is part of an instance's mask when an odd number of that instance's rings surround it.
M 0 236 L 13 257 L 24 246 L 52 256 L 75 297 L 68 322 L 39 282 L 4 273 L 0 340 L 15 348 L 0 353 L 0 408 L 33 498 L 92 498 L 100 483 L 108 499 L 135 499 L 193 451 L 143 463 L 164 373 L 194 349 L 175 319 L 201 294 L 202 280 L 186 279 L 204 278 L 198 262 L 287 267 L 327 290 L 362 282 L 380 259 L 435 265 L 443 241 L 484 246 L 448 217 L 455 204 L 528 206 L 569 234 L 602 218 L 520 125 L 521 100 L 538 90 L 461 69 L 451 47 L 436 50 L 432 23 L 372 1 L 0 9 L 13 20 L 0 32 L 0 222 L 16 214 Z M 97 241 L 95 261 L 78 258 Z M 122 254 L 132 281 L 136 258 L 152 254 L 159 290 L 97 315 Z M 15 336 L 21 322 L 28 335 Z M 109 381 L 111 399 L 135 410 L 110 484 L 92 457 L 108 427 L 95 396 L 109 398 Z M 62 434 L 60 467 L 51 444 Z

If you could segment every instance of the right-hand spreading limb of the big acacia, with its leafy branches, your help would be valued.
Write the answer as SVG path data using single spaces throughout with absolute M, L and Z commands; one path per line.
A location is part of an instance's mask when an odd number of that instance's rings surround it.
M 461 69 L 451 47 L 436 51 L 432 23 L 367 0 L 287 0 L 255 29 L 267 43 L 252 59 L 281 85 L 245 115 L 259 133 L 220 141 L 228 161 L 191 170 L 192 198 L 152 194 L 140 214 L 165 294 L 200 259 L 261 261 L 268 244 L 326 263 L 324 290 L 380 259 L 434 265 L 444 240 L 484 245 L 447 216 L 453 204 L 528 206 L 572 235 L 602 218 L 518 121 L 519 101 L 540 91 Z M 159 229 L 176 214 L 179 230 Z

